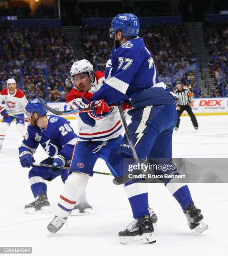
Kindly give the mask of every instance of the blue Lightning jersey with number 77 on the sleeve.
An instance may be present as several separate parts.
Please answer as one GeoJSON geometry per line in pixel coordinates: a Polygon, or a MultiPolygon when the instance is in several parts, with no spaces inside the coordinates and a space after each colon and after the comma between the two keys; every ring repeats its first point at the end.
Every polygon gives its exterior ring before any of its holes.
{"type": "Polygon", "coordinates": [[[94,93],[91,100],[108,104],[132,98],[138,92],[159,83],[153,57],[143,39],[137,37],[118,47],[112,56],[110,79],[94,93]]]}

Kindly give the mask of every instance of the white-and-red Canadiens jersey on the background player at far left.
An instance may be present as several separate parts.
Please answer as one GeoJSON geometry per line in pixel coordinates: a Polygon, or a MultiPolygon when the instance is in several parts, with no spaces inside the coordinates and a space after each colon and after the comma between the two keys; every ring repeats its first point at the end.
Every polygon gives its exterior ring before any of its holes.
{"type": "Polygon", "coordinates": [[[8,113],[18,115],[24,113],[28,100],[21,90],[16,89],[14,94],[10,94],[9,90],[5,88],[0,92],[0,105],[2,102],[5,103],[8,113]]]}

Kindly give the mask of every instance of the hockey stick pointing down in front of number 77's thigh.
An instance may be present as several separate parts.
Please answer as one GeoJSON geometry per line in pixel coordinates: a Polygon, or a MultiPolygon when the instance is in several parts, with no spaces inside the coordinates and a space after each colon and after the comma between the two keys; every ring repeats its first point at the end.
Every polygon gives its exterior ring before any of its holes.
{"type": "MultiPolygon", "coordinates": [[[[128,139],[128,143],[130,145],[131,154],[133,155],[133,159],[135,161],[135,164],[139,164],[138,155],[136,153],[132,138],[130,136],[130,132],[128,130],[128,125],[127,125],[127,122],[126,122],[126,118],[125,118],[124,113],[123,113],[122,104],[118,104],[118,109],[119,109],[119,112],[120,112],[120,118],[121,118],[121,121],[123,123],[125,134],[126,134],[126,137],[128,139]]],[[[141,172],[139,172],[137,170],[135,172],[131,172],[131,174],[140,174],[140,173],[141,172]]],[[[128,175],[129,174],[124,174],[123,176],[116,177],[115,179],[113,179],[113,183],[115,185],[120,185],[120,184],[123,184],[125,182],[128,182],[129,180],[131,180],[131,178],[129,178],[128,175]]]]}

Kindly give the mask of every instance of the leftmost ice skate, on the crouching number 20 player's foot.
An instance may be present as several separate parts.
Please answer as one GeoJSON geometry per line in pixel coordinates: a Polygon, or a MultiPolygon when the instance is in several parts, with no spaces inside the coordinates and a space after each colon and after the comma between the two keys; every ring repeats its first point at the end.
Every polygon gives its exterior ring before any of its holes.
{"type": "Polygon", "coordinates": [[[35,201],[25,205],[25,212],[29,214],[42,214],[51,212],[50,203],[46,195],[38,195],[35,201]]]}

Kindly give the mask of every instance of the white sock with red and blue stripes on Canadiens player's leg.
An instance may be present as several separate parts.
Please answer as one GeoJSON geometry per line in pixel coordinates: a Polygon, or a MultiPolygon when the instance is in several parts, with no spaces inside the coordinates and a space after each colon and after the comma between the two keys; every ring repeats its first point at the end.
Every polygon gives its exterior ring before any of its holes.
{"type": "Polygon", "coordinates": [[[88,184],[89,174],[72,172],[65,181],[63,192],[60,195],[56,216],[65,218],[73,210],[80,195],[88,184]]]}

